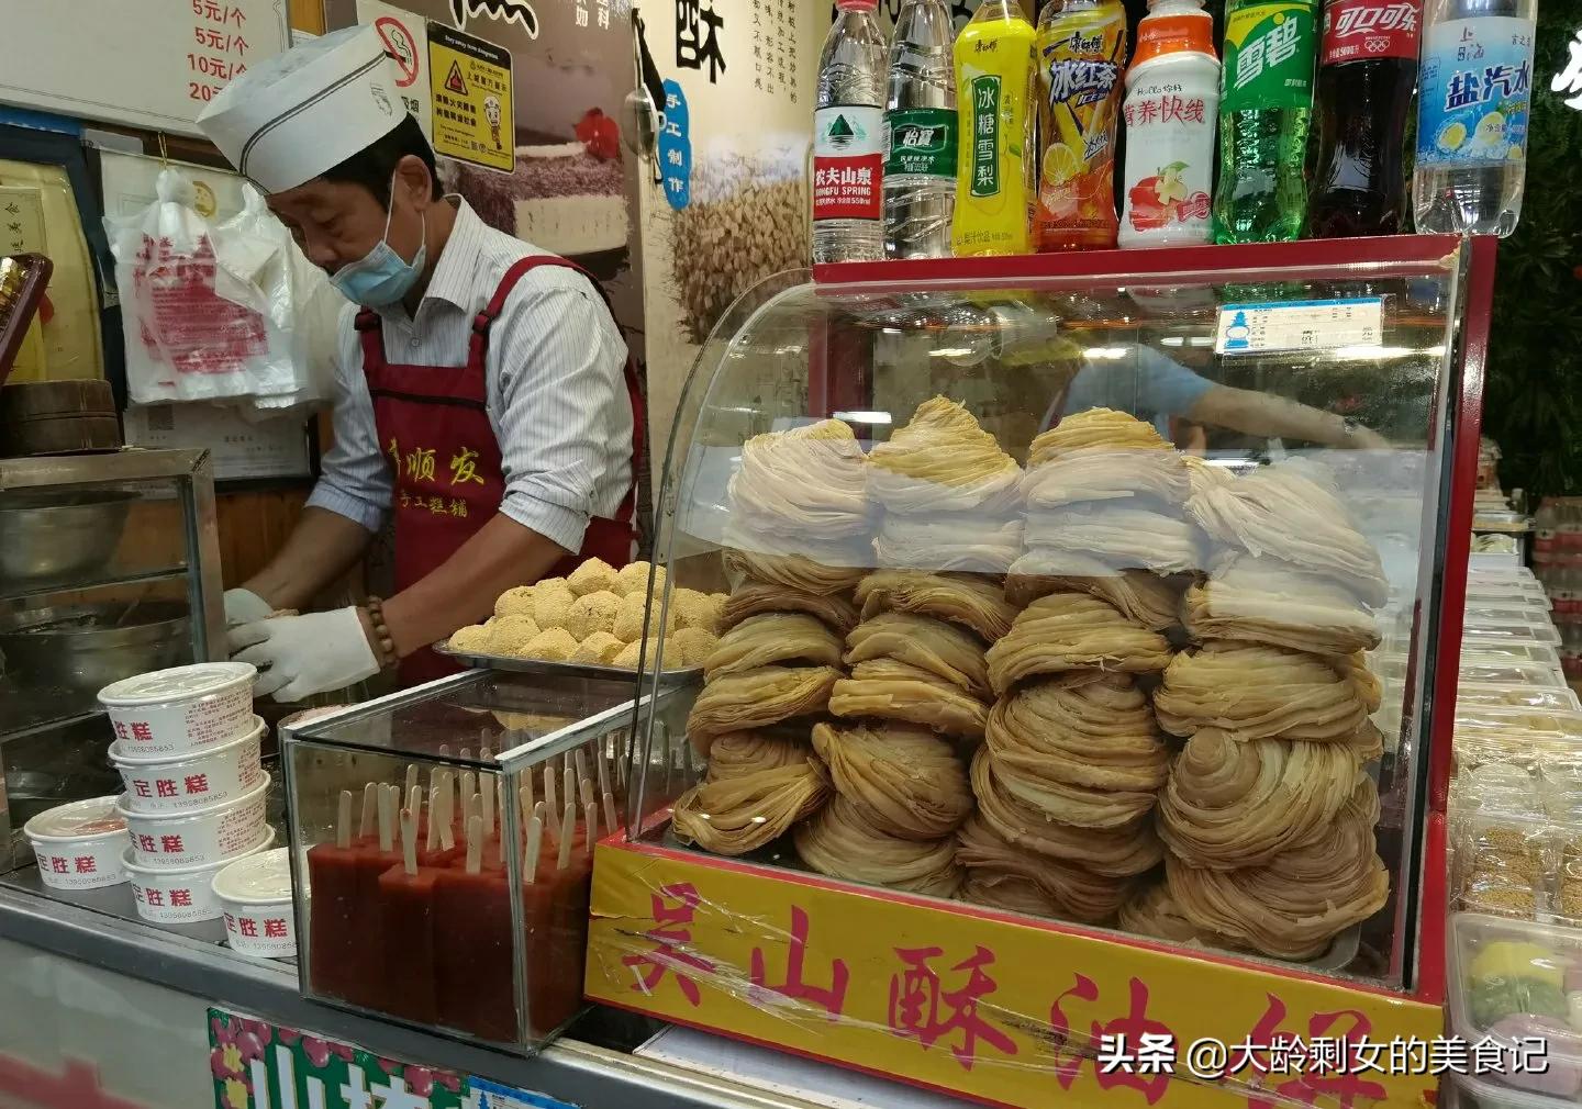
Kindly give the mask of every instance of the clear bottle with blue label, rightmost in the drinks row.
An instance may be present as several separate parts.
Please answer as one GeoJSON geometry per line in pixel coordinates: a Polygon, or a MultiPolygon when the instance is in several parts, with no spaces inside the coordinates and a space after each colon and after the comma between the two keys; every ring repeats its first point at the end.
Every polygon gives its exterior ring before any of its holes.
{"type": "Polygon", "coordinates": [[[1430,0],[1411,195],[1419,233],[1516,229],[1538,0],[1430,0]]]}

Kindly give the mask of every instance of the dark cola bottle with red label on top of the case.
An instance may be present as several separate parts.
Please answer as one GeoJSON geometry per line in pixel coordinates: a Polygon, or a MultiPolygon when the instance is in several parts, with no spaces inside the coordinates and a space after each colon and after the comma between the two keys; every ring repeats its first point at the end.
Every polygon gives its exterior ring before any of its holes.
{"type": "Polygon", "coordinates": [[[1405,223],[1402,158],[1421,27],[1422,0],[1324,5],[1308,214],[1318,239],[1397,234],[1405,223]]]}

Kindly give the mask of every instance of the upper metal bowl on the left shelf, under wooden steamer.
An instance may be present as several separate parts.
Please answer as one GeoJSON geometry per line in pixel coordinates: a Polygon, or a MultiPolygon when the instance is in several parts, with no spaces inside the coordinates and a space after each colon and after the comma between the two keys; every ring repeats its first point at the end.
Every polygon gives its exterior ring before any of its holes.
{"type": "Polygon", "coordinates": [[[136,494],[0,492],[0,585],[70,581],[109,565],[136,494]]]}

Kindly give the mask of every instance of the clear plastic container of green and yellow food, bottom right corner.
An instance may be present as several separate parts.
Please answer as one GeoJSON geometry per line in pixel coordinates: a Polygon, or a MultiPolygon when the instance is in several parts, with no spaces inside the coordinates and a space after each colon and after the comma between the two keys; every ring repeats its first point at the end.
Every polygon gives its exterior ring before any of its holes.
{"type": "Polygon", "coordinates": [[[1582,932],[1457,913],[1449,944],[1451,1031],[1470,1044],[1490,1038],[1506,1049],[1506,1073],[1473,1079],[1474,1096],[1511,1106],[1573,1104],[1582,1095],[1582,1033],[1571,1024],[1582,987],[1582,932]],[[1512,1073],[1516,1041],[1528,1036],[1547,1039],[1542,1069],[1512,1073]]]}

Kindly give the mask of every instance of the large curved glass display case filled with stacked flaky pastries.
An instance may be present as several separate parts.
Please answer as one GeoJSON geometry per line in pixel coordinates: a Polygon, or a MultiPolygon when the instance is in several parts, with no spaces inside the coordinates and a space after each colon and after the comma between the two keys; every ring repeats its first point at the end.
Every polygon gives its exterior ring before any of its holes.
{"type": "Polygon", "coordinates": [[[731,598],[685,742],[639,728],[641,843],[1436,1000],[1490,266],[1398,237],[750,294],[666,459],[650,688],[685,590],[731,598]]]}

